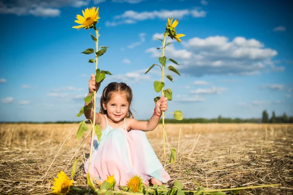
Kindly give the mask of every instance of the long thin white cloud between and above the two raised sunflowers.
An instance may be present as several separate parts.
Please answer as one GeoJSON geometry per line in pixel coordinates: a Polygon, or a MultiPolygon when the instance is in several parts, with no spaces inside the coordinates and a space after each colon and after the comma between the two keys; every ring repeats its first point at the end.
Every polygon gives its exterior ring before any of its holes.
{"type": "Polygon", "coordinates": [[[183,10],[155,10],[136,12],[127,10],[122,15],[115,16],[112,21],[106,21],[106,26],[117,26],[121,24],[131,24],[143,20],[154,20],[156,18],[167,20],[168,17],[182,19],[184,16],[191,16],[193,18],[204,18],[207,12],[201,8],[183,9],[183,10]]]}

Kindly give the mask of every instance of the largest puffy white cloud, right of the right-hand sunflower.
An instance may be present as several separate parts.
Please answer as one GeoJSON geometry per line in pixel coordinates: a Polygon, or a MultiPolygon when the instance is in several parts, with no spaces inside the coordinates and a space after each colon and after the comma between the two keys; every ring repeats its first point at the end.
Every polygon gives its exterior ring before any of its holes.
{"type": "MultiPolygon", "coordinates": [[[[272,58],[278,53],[265,48],[256,39],[236,37],[231,41],[224,36],[191,38],[182,42],[184,49],[176,50],[174,45],[166,47],[166,56],[179,59],[178,70],[193,77],[203,75],[257,75],[264,71],[284,71],[274,65],[272,58]],[[169,50],[169,51],[167,51],[169,50]]],[[[160,51],[149,48],[152,57],[159,57],[160,51]]]]}

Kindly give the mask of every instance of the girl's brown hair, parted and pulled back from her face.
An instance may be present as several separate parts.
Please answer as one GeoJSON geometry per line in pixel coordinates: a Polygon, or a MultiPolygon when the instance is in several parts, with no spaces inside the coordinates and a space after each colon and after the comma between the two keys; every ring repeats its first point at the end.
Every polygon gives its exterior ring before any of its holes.
{"type": "Polygon", "coordinates": [[[100,99],[100,104],[101,104],[100,113],[103,115],[107,114],[107,111],[104,109],[103,103],[107,104],[110,101],[112,95],[115,93],[124,93],[125,94],[126,100],[129,104],[126,118],[130,118],[130,117],[134,118],[131,111],[130,111],[130,105],[131,105],[131,101],[132,101],[132,90],[124,82],[120,82],[120,83],[111,82],[108,84],[108,86],[105,87],[105,89],[103,90],[103,94],[101,96],[101,99],[100,99]]]}

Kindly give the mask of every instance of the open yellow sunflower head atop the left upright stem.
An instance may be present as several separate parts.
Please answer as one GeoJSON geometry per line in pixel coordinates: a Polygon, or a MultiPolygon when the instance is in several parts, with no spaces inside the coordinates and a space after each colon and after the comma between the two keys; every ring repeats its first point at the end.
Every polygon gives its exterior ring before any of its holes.
{"type": "Polygon", "coordinates": [[[76,15],[77,20],[74,20],[76,23],[81,24],[79,26],[73,26],[72,28],[85,28],[86,30],[89,28],[93,28],[95,24],[98,22],[99,17],[99,7],[92,7],[92,8],[86,8],[83,10],[83,15],[76,15]]]}

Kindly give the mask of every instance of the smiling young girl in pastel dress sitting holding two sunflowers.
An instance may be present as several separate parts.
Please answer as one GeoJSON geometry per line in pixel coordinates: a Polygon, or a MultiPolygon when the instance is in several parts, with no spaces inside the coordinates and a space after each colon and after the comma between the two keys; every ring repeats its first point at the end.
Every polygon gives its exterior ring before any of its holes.
{"type": "MultiPolygon", "coordinates": [[[[89,94],[97,91],[100,85],[92,74],[88,82],[89,94]]],[[[90,176],[104,181],[107,176],[114,175],[117,185],[126,186],[129,178],[137,175],[141,176],[146,185],[149,181],[162,185],[170,176],[154,153],[144,131],[152,131],[158,126],[162,112],[168,107],[167,98],[161,97],[156,102],[149,121],[133,118],[131,100],[132,90],[125,83],[111,82],[103,90],[100,113],[95,113],[95,123],[103,131],[100,142],[97,136],[94,137],[90,176]]],[[[93,103],[90,102],[88,106],[92,108],[93,103]]],[[[91,109],[84,115],[93,119],[91,109]]],[[[88,160],[84,164],[86,174],[87,168],[88,160]]]]}

